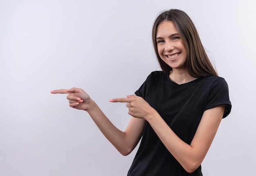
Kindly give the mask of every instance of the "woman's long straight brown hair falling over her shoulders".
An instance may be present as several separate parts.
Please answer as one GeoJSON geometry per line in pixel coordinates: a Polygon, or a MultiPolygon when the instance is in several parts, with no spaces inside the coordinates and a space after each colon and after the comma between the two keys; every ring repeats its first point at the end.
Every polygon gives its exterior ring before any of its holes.
{"type": "Polygon", "coordinates": [[[159,56],[157,51],[157,42],[156,34],[158,25],[164,20],[171,20],[175,23],[177,30],[180,33],[182,41],[186,47],[188,58],[186,59],[186,68],[189,75],[192,77],[202,77],[215,75],[218,76],[218,73],[212,66],[198,35],[195,25],[189,16],[181,10],[171,9],[168,11],[162,12],[155,19],[152,30],[152,39],[153,45],[155,48],[155,53],[159,62],[160,67],[165,73],[168,73],[172,70],[159,56]]]}

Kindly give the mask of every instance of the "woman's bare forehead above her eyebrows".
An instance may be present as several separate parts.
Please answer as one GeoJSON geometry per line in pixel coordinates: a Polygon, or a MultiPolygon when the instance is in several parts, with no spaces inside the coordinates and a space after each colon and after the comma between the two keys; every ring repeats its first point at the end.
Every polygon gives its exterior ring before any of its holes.
{"type": "Polygon", "coordinates": [[[156,37],[169,36],[174,33],[179,33],[175,23],[171,20],[164,20],[157,26],[156,37]]]}

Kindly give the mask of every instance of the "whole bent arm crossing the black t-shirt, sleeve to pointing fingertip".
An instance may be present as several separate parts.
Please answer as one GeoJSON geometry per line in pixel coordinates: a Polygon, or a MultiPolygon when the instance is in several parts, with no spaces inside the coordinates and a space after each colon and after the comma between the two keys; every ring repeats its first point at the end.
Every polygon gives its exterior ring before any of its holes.
{"type": "Polygon", "coordinates": [[[182,141],[144,99],[136,95],[127,98],[112,99],[112,102],[127,102],[128,114],[145,119],[164,143],[168,151],[177,159],[182,167],[192,173],[202,163],[223,117],[225,105],[204,111],[191,144],[182,141]]]}

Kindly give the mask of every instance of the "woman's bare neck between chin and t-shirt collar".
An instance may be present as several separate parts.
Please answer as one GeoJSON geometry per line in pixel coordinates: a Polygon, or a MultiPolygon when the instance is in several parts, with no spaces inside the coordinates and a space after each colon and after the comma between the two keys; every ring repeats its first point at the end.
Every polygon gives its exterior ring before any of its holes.
{"type": "Polygon", "coordinates": [[[186,69],[173,69],[170,72],[169,78],[176,84],[185,84],[196,79],[191,77],[186,69]]]}

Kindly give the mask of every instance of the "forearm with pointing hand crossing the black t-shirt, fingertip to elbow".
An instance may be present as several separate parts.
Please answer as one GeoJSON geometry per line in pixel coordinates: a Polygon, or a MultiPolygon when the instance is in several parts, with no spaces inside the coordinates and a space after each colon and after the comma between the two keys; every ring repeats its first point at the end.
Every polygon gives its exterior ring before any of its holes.
{"type": "Polygon", "coordinates": [[[150,123],[153,130],[156,132],[159,139],[164,143],[166,148],[173,154],[177,161],[186,168],[186,165],[191,165],[194,158],[193,148],[184,143],[165,123],[158,112],[153,109],[141,97],[130,95],[127,98],[112,99],[112,102],[128,102],[128,114],[138,119],[144,119],[150,123]]]}

